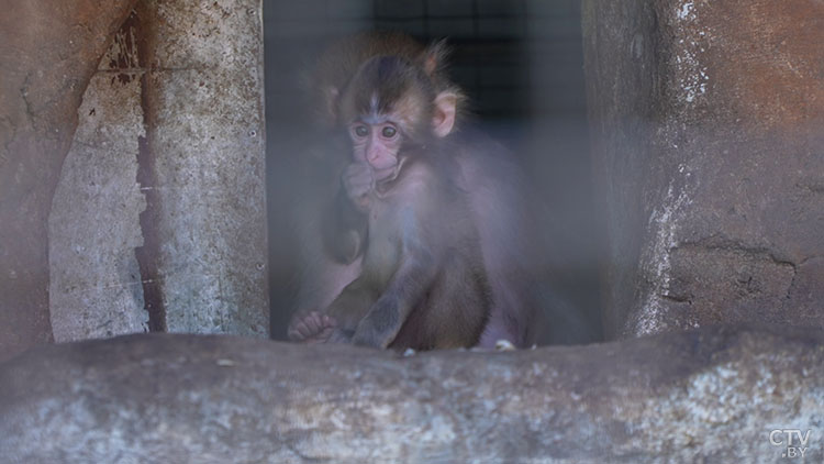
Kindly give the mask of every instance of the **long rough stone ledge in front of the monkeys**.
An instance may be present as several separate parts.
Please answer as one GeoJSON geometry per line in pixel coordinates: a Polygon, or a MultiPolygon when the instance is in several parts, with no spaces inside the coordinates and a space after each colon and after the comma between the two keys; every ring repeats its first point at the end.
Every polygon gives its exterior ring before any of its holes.
{"type": "Polygon", "coordinates": [[[0,454],[54,462],[824,459],[824,335],[703,328],[586,347],[403,357],[203,335],[44,346],[0,366],[0,454]],[[773,437],[775,439],[775,437],[773,437]]]}

